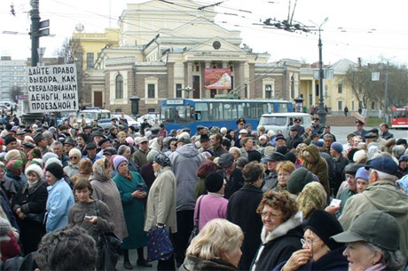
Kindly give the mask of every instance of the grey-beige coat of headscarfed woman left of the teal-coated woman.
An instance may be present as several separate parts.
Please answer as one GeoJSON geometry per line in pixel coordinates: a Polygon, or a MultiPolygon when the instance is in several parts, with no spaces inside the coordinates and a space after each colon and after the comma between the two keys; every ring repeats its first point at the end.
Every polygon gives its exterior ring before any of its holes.
{"type": "Polygon", "coordinates": [[[112,220],[114,221],[114,234],[123,239],[128,237],[125,216],[123,215],[121,195],[112,179],[90,179],[92,185],[92,198],[106,203],[112,220]]]}

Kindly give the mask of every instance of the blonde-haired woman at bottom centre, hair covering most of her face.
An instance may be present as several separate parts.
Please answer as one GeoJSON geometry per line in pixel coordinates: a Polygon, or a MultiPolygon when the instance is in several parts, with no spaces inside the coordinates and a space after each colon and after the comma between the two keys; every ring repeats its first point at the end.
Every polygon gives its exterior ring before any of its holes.
{"type": "Polygon", "coordinates": [[[212,219],[187,248],[181,271],[238,270],[244,234],[226,219],[212,219]]]}

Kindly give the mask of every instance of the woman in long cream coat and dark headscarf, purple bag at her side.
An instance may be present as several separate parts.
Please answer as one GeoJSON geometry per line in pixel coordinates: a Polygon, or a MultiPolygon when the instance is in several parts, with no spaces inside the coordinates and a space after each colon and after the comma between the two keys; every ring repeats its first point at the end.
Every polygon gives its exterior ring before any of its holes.
{"type": "MultiPolygon", "coordinates": [[[[154,155],[152,168],[156,179],[147,197],[145,231],[149,231],[156,225],[167,225],[171,233],[175,234],[177,233],[177,181],[171,171],[169,157],[163,153],[154,155]]],[[[159,260],[157,269],[175,270],[173,256],[166,260],[159,260]]]]}

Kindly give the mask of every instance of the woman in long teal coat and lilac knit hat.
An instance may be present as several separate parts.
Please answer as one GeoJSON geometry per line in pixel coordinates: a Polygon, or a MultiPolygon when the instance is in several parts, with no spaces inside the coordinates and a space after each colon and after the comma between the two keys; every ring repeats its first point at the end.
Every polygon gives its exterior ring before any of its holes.
{"type": "Polygon", "coordinates": [[[114,157],[114,169],[118,171],[114,182],[121,195],[123,214],[129,236],[123,239],[123,266],[132,269],[129,261],[129,250],[137,249],[137,266],[152,267],[147,263],[143,248],[147,242],[145,235],[145,206],[143,199],[147,196],[145,180],[135,171],[129,171],[128,159],[122,155],[114,157]]]}

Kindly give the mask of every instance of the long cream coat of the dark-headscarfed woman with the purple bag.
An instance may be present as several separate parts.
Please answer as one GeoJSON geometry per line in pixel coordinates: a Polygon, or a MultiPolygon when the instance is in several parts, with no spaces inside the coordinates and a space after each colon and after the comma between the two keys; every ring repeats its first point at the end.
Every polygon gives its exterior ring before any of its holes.
{"type": "Polygon", "coordinates": [[[177,233],[177,181],[169,166],[163,167],[153,182],[147,197],[145,231],[149,231],[157,222],[177,233]]]}

